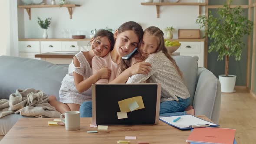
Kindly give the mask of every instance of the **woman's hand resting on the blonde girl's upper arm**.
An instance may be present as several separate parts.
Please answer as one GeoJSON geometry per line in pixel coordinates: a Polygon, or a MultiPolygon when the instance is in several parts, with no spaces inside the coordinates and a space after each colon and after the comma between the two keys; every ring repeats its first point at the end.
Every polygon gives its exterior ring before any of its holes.
{"type": "Polygon", "coordinates": [[[150,72],[151,64],[148,62],[138,62],[129,67],[127,70],[131,75],[144,74],[147,75],[150,72]]]}

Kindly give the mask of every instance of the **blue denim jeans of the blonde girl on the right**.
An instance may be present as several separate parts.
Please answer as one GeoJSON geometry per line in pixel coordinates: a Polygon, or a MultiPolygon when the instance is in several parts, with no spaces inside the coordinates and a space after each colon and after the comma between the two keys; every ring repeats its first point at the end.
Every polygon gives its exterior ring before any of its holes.
{"type": "Polygon", "coordinates": [[[178,100],[161,102],[159,116],[187,115],[187,111],[184,110],[190,104],[190,98],[182,99],[178,97],[178,100]]]}

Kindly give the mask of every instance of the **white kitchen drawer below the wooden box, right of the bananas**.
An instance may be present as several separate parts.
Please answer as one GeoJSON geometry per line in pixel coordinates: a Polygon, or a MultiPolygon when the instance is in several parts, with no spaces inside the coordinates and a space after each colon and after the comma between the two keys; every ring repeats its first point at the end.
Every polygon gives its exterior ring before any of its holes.
{"type": "Polygon", "coordinates": [[[181,47],[179,52],[200,53],[200,42],[180,42],[181,47]]]}

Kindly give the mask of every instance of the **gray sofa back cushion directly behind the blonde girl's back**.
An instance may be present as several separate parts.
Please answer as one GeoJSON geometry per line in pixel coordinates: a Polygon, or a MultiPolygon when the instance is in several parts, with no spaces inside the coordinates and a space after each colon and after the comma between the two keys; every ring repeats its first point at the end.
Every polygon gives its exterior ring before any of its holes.
{"type": "Polygon", "coordinates": [[[177,65],[183,73],[185,85],[190,94],[190,105],[193,104],[195,89],[197,86],[197,61],[198,57],[194,56],[173,56],[177,65]]]}

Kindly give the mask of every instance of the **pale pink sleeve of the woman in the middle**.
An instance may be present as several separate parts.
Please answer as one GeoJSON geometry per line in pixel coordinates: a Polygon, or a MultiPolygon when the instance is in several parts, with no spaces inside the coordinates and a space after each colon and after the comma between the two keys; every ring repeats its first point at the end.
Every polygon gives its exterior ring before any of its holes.
{"type": "MultiPolygon", "coordinates": [[[[95,74],[96,72],[98,72],[98,70],[100,70],[101,68],[103,68],[105,65],[105,59],[100,58],[98,56],[94,56],[92,58],[92,74],[95,74]]],[[[96,84],[107,84],[108,83],[108,79],[99,79],[96,84]]]]}

